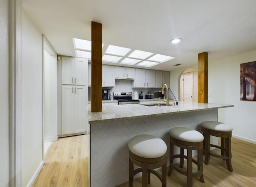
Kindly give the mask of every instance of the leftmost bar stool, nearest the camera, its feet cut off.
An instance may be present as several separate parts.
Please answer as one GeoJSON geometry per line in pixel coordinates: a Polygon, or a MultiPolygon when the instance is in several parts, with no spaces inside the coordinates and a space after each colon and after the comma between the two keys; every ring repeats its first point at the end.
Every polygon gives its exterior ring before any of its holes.
{"type": "Polygon", "coordinates": [[[133,177],[142,172],[142,187],[150,184],[150,173],[156,175],[166,187],[166,151],[164,141],[153,135],[137,135],[130,139],[129,147],[129,187],[133,187],[133,177]],[[133,164],[140,168],[135,169],[133,164]],[[162,167],[162,176],[154,169],[162,167]]]}

